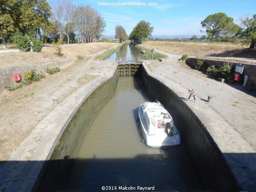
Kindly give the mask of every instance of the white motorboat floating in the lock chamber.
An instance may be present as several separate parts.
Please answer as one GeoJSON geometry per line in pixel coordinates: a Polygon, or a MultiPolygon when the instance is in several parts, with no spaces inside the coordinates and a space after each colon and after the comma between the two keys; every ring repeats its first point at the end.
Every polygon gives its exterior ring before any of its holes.
{"type": "Polygon", "coordinates": [[[144,102],[138,117],[145,143],[150,147],[180,144],[180,135],[168,111],[159,102],[144,102]]]}

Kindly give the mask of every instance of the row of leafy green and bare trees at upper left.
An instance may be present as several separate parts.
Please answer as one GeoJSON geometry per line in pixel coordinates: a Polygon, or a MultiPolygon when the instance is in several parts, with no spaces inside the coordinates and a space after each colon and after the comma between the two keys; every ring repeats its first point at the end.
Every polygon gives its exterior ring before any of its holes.
{"type": "MultiPolygon", "coordinates": [[[[72,0],[0,0],[0,39],[6,48],[14,34],[56,42],[66,38],[94,42],[100,38],[106,22],[90,5],[75,5],[72,0]]],[[[72,40],[71,40],[72,39],[72,40]]]]}

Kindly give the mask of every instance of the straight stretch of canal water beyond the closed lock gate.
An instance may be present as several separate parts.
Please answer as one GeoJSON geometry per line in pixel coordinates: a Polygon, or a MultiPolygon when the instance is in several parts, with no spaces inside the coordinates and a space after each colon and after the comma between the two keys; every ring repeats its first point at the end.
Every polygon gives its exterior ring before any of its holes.
{"type": "Polygon", "coordinates": [[[116,58],[141,58],[148,59],[147,56],[141,53],[141,51],[130,43],[125,43],[119,48],[110,58],[107,60],[116,60],[116,58]]]}

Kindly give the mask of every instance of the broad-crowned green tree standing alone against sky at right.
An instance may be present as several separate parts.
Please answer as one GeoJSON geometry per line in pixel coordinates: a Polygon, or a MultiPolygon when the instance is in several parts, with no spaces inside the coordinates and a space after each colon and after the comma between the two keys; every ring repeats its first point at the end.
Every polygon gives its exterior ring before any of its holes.
{"type": "Polygon", "coordinates": [[[234,24],[233,20],[233,18],[227,17],[225,13],[215,13],[201,21],[201,26],[202,28],[206,28],[211,42],[215,37],[235,35],[239,27],[234,24]]]}

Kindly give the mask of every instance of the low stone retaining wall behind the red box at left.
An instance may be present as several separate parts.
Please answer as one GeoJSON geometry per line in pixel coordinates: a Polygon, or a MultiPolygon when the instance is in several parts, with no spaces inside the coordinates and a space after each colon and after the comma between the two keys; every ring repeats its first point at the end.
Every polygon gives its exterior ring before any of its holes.
{"type": "Polygon", "coordinates": [[[3,67],[0,70],[0,93],[4,91],[6,86],[15,86],[17,83],[14,81],[13,75],[15,73],[20,73],[21,79],[25,78],[25,73],[35,70],[38,73],[41,71],[45,72],[47,68],[64,68],[67,67],[72,62],[72,59],[67,59],[65,61],[50,61],[45,63],[36,64],[25,64],[24,66],[14,66],[14,67],[3,67]]]}

